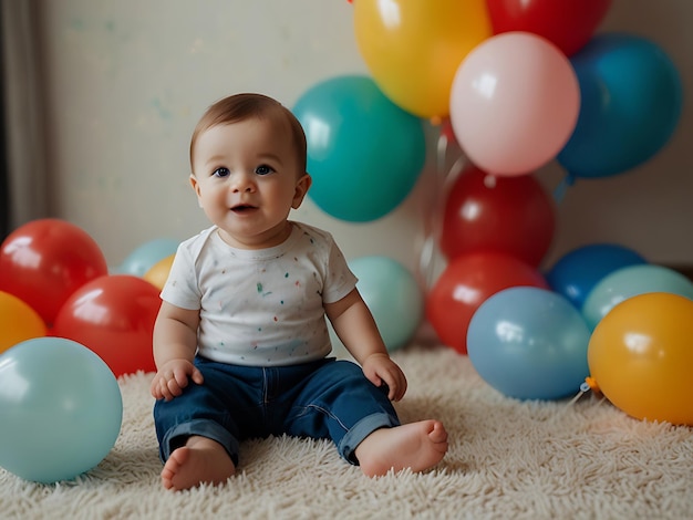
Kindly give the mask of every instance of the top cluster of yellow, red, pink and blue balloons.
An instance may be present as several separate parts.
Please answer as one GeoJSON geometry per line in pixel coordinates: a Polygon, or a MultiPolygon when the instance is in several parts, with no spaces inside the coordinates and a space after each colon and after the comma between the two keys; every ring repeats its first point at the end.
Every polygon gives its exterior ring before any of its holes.
{"type": "Polygon", "coordinates": [[[354,33],[382,92],[449,118],[494,175],[558,158],[571,178],[627,171],[673,133],[681,80],[649,40],[594,35],[611,0],[358,0],[354,33]]]}

